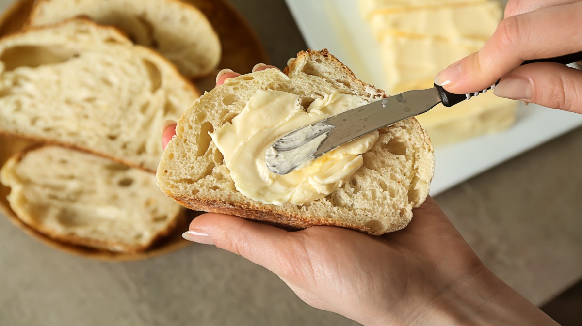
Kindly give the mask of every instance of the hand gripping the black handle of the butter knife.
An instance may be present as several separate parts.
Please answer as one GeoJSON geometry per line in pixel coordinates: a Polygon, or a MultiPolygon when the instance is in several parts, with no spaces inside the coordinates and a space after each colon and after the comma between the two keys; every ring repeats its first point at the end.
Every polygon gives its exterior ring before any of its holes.
{"type": "Polygon", "coordinates": [[[497,96],[582,113],[582,71],[548,62],[520,66],[524,60],[579,52],[581,28],[580,0],[509,0],[491,39],[441,71],[435,84],[467,94],[503,77],[497,96]]]}

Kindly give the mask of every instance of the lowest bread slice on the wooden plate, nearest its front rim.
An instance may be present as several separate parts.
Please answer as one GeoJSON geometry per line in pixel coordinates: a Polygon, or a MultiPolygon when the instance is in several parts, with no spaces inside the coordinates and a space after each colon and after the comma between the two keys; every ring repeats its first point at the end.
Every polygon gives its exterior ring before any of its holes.
{"type": "Polygon", "coordinates": [[[26,149],[0,171],[8,202],[34,230],[58,241],[143,252],[183,213],[151,173],[59,146],[26,149]]]}

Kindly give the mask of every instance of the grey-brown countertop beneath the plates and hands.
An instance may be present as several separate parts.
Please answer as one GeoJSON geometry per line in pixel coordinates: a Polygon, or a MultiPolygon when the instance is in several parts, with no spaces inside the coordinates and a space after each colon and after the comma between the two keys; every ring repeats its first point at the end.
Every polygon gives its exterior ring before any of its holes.
{"type": "MultiPolygon", "coordinates": [[[[275,65],[306,47],[283,0],[232,2],[275,65]]],[[[582,129],[436,198],[485,264],[537,304],[582,277],[580,149],[582,129]]],[[[48,248],[3,217],[0,239],[0,325],[356,325],[213,246],[107,263],[48,248]]]]}

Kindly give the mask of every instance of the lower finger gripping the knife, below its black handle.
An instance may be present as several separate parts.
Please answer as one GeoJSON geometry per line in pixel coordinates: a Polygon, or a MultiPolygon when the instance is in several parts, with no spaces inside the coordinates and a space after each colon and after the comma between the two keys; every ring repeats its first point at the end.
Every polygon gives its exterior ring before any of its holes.
{"type": "Polygon", "coordinates": [[[582,113],[582,71],[549,62],[521,66],[501,80],[495,95],[582,113]]]}

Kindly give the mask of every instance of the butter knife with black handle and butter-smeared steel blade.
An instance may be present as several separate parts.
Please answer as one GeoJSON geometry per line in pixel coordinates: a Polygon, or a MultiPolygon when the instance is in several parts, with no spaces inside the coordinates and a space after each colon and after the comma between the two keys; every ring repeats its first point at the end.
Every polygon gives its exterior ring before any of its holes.
{"type": "MultiPolygon", "coordinates": [[[[550,59],[527,60],[522,66],[536,62],[569,65],[580,60],[582,52],[577,52],[550,59]]],[[[497,84],[499,80],[489,88],[470,94],[452,94],[435,84],[432,88],[403,92],[348,110],[284,135],[267,149],[265,162],[272,172],[288,174],[368,132],[425,113],[439,103],[453,106],[494,89],[497,84]]]]}

